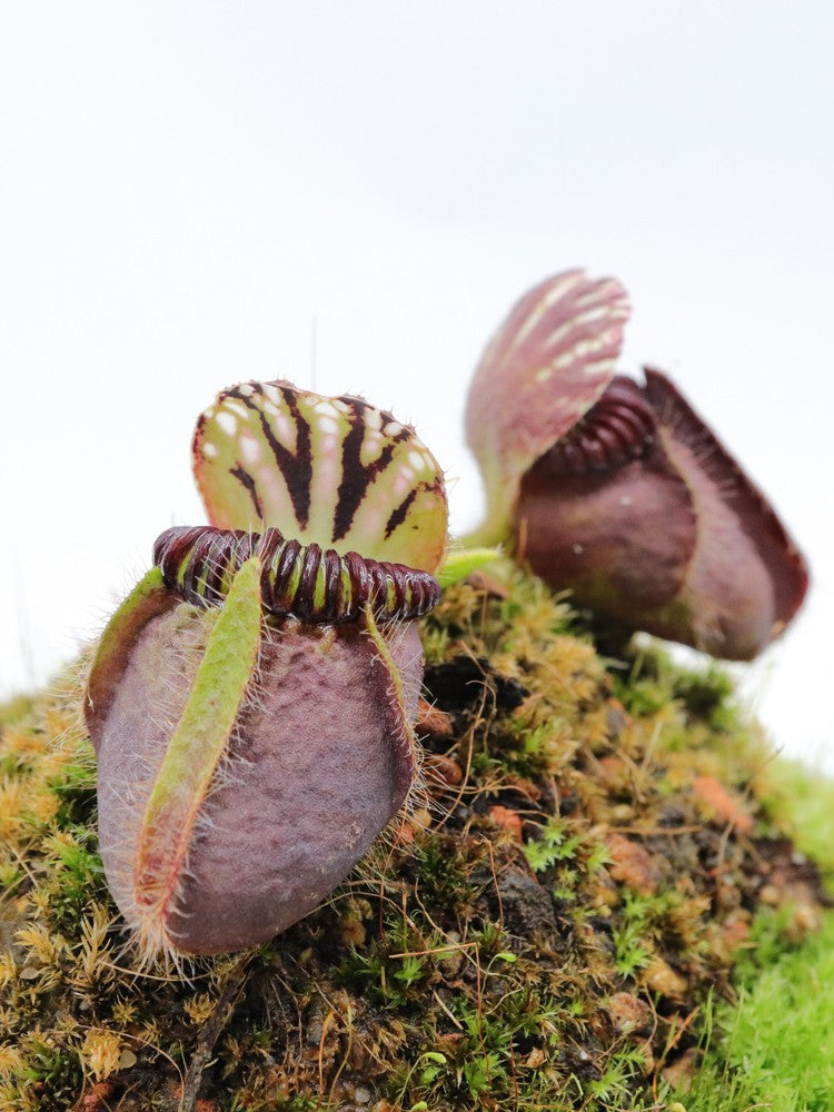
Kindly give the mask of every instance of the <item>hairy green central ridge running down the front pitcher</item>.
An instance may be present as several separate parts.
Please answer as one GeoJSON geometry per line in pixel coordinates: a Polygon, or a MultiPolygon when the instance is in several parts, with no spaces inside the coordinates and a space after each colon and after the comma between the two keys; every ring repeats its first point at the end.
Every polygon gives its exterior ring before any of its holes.
{"type": "MultiPolygon", "coordinates": [[[[227,749],[260,641],[257,557],[238,570],[214,624],[191,693],[148,800],[135,884],[142,912],[165,916],[176,895],[195,822],[227,749]]],[[[214,617],[216,614],[216,617],[214,617]]]]}

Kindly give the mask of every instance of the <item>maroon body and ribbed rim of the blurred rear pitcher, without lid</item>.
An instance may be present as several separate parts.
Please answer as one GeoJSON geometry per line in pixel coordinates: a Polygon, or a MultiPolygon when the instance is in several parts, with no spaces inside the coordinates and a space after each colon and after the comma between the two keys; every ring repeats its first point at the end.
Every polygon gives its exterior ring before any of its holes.
{"type": "Polygon", "coordinates": [[[802,555],[767,499],[661,371],[617,378],[525,475],[517,536],[583,605],[749,659],[800,607],[802,555]]]}

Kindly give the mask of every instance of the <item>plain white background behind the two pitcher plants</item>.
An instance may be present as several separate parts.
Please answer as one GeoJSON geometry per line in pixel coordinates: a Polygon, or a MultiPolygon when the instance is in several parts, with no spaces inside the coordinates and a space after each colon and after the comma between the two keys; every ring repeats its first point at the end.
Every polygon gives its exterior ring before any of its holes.
{"type": "Polygon", "coordinates": [[[480,508],[471,369],[510,304],[614,274],[624,369],[673,373],[812,563],[745,674],[834,768],[834,4],[0,3],[0,693],[203,520],[218,389],[411,419],[480,508]]]}

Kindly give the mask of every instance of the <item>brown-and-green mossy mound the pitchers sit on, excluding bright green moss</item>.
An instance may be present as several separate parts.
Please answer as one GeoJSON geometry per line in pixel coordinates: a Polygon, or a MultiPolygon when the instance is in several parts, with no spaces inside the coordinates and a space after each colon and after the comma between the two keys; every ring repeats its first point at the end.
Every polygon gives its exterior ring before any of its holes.
{"type": "MultiPolygon", "coordinates": [[[[510,568],[424,643],[408,816],[315,915],[187,976],[120,949],[79,687],[8,716],[0,1110],[674,1108],[761,909],[780,939],[820,921],[757,731],[719,669],[592,636],[510,568]]],[[[738,1060],[709,1061],[726,1090],[738,1060]]]]}

